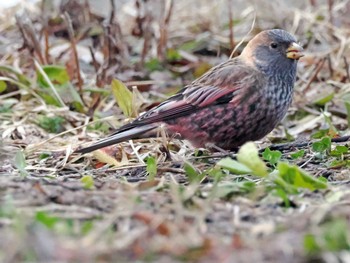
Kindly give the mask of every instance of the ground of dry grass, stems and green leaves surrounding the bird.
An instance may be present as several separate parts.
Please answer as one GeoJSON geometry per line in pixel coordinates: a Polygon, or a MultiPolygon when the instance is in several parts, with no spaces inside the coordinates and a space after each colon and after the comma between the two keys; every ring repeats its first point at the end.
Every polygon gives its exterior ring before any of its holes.
{"type": "Polygon", "coordinates": [[[349,1],[47,3],[0,15],[1,262],[350,262],[349,1]],[[275,27],[306,56],[263,140],[73,153],[275,27]]]}

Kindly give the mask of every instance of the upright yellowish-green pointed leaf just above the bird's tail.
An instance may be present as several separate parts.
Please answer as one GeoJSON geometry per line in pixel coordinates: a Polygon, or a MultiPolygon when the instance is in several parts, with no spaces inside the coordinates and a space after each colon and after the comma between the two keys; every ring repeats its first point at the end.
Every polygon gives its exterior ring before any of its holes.
{"type": "Polygon", "coordinates": [[[132,92],[124,85],[123,82],[114,79],[112,80],[112,92],[119,108],[127,117],[134,116],[132,107],[132,92]]]}

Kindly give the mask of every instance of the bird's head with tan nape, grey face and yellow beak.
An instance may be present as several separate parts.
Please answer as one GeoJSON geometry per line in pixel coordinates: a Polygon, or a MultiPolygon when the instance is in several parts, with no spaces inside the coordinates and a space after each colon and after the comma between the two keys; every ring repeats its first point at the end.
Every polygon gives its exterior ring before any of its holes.
{"type": "Polygon", "coordinates": [[[282,29],[265,30],[256,35],[242,52],[242,59],[265,73],[296,70],[303,48],[293,35],[282,29]]]}

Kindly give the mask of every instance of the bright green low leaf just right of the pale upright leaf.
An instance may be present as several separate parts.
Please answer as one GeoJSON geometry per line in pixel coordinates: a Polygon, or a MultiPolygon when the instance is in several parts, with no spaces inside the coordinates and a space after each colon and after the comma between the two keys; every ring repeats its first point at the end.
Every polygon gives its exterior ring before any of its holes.
{"type": "Polygon", "coordinates": [[[307,188],[311,191],[327,188],[327,183],[312,177],[296,165],[279,162],[278,175],[284,182],[297,188],[307,188]]]}

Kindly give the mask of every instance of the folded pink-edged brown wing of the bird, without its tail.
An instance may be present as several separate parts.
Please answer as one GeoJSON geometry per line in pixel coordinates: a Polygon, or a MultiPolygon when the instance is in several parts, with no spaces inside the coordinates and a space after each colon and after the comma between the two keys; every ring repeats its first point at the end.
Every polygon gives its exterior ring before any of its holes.
{"type": "Polygon", "coordinates": [[[240,61],[224,62],[115,133],[185,116],[203,107],[230,103],[238,94],[242,94],[242,91],[249,94],[250,90],[257,88],[259,74],[254,68],[240,61]]]}

